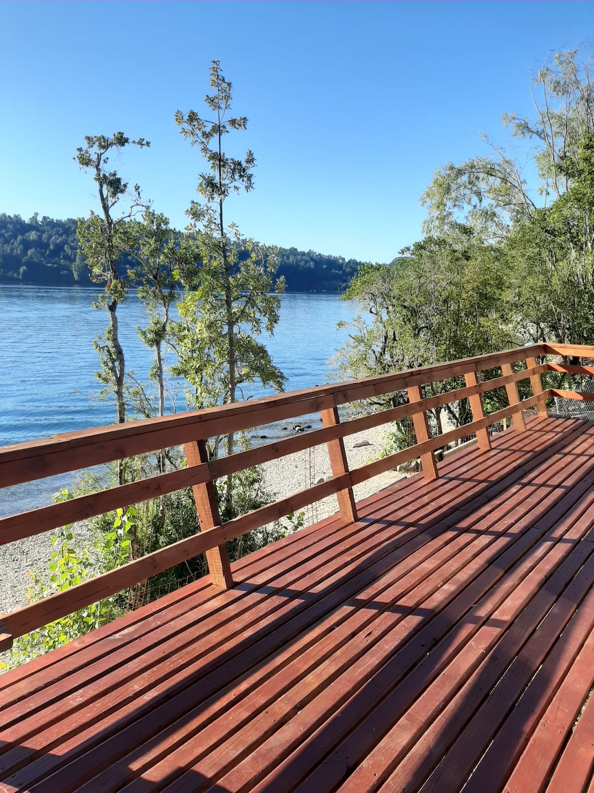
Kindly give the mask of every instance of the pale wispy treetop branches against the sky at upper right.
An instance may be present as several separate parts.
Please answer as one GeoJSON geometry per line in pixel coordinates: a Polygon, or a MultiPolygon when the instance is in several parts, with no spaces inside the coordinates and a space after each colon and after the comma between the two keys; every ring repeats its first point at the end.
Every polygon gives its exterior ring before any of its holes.
{"type": "Polygon", "coordinates": [[[539,203],[546,207],[561,196],[571,179],[568,163],[578,165],[579,152],[594,134],[594,94],[589,57],[577,61],[577,51],[559,52],[531,80],[535,117],[504,113],[502,120],[512,135],[535,143],[531,150],[539,176],[531,193],[524,164],[505,147],[482,139],[491,154],[448,163],[437,170],[421,198],[427,207],[425,232],[447,232],[460,220],[482,239],[508,239],[512,225],[535,217],[539,203]],[[540,198],[539,198],[540,197],[540,198]]]}

